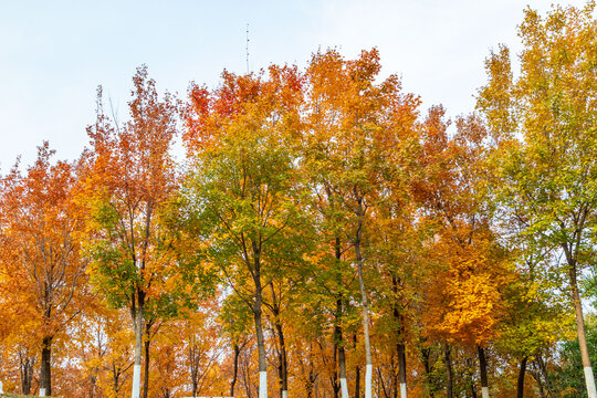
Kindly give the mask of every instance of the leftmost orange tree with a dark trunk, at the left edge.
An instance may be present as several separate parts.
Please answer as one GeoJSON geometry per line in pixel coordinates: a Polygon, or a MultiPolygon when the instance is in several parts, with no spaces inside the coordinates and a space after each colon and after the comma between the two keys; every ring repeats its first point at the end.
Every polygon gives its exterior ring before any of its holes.
{"type": "MultiPolygon", "coordinates": [[[[4,300],[36,328],[41,346],[40,395],[52,394],[52,344],[84,305],[86,262],[74,198],[76,165],[52,161],[48,143],[23,175],[17,164],[0,186],[0,261],[4,300]]],[[[23,388],[28,389],[28,388],[23,388]]]]}

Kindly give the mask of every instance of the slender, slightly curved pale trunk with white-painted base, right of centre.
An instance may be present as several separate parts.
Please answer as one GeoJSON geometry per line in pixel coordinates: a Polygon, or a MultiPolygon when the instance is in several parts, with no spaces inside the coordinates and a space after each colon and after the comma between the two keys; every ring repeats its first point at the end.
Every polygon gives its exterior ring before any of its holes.
{"type": "Polygon", "coordinates": [[[365,289],[365,279],[363,276],[363,254],[360,252],[362,232],[363,232],[363,203],[358,201],[358,226],[355,235],[355,256],[357,262],[358,284],[360,286],[360,297],[363,304],[363,338],[365,343],[365,398],[373,398],[373,362],[371,362],[371,346],[369,343],[369,304],[367,300],[367,291],[365,289]]]}

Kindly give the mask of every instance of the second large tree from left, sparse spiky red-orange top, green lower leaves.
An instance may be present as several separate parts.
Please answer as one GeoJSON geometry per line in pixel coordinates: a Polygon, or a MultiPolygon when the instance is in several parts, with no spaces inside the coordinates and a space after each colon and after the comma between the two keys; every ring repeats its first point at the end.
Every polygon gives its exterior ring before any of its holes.
{"type": "Polygon", "coordinates": [[[151,302],[154,308],[160,308],[160,301],[176,304],[180,291],[165,250],[166,227],[159,221],[177,189],[169,153],[177,107],[169,94],[159,100],[147,67],[137,70],[133,83],[130,121],[123,126],[104,114],[98,90],[97,121],[87,128],[92,149],[82,200],[88,203],[92,282],[112,305],[130,311],[135,332],[132,397],[138,398],[146,308],[151,302]]]}

